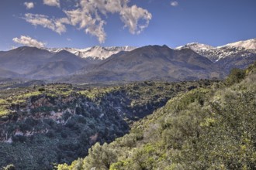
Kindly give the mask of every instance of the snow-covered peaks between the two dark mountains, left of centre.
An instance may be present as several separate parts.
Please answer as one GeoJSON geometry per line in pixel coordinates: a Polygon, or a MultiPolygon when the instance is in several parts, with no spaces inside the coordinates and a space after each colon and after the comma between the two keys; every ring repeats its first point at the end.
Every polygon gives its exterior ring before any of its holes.
{"type": "Polygon", "coordinates": [[[102,46],[93,46],[85,49],[75,49],[75,48],[53,48],[47,49],[51,53],[58,53],[61,50],[66,50],[70,53],[73,53],[76,56],[80,56],[85,59],[106,59],[113,54],[119,53],[121,51],[131,51],[136,49],[133,46],[111,46],[111,47],[102,47],[102,46]]]}

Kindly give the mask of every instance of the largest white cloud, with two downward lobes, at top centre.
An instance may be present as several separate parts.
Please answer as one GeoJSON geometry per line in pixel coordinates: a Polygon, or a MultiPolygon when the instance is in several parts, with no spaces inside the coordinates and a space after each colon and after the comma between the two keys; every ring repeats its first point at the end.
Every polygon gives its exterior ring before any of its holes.
{"type": "Polygon", "coordinates": [[[107,17],[108,13],[119,13],[120,19],[130,33],[139,34],[149,24],[152,15],[144,8],[137,5],[128,6],[129,0],[81,0],[78,8],[64,11],[71,21],[71,25],[84,29],[86,33],[97,36],[99,42],[105,42],[106,32],[103,28],[106,21],[101,15],[107,17]],[[143,20],[144,23],[139,22],[143,20]]]}

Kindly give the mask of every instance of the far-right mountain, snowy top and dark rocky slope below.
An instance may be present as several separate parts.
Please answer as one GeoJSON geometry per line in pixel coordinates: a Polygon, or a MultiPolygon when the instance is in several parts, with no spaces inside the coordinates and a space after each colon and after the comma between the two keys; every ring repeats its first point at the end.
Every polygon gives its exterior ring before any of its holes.
{"type": "Polygon", "coordinates": [[[227,75],[234,68],[244,69],[256,59],[256,39],[229,43],[225,46],[208,46],[197,42],[176,49],[192,49],[210,59],[220,72],[227,75]]]}

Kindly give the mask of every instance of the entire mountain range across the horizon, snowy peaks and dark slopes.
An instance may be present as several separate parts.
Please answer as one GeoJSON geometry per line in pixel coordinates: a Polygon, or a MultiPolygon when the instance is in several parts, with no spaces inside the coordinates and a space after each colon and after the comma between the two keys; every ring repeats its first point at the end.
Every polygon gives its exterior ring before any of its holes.
{"type": "Polygon", "coordinates": [[[21,46],[0,52],[0,77],[98,83],[137,80],[221,79],[234,67],[256,60],[256,39],[209,46],[38,49],[21,46]]]}

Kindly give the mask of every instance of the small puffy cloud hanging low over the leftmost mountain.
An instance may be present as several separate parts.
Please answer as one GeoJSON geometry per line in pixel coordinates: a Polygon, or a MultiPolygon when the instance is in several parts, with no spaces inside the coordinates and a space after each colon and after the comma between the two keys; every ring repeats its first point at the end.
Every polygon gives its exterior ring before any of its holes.
{"type": "Polygon", "coordinates": [[[36,39],[32,39],[29,36],[20,36],[20,38],[14,38],[12,39],[13,42],[22,44],[24,46],[36,46],[37,48],[45,47],[45,42],[37,41],[36,39]]]}

